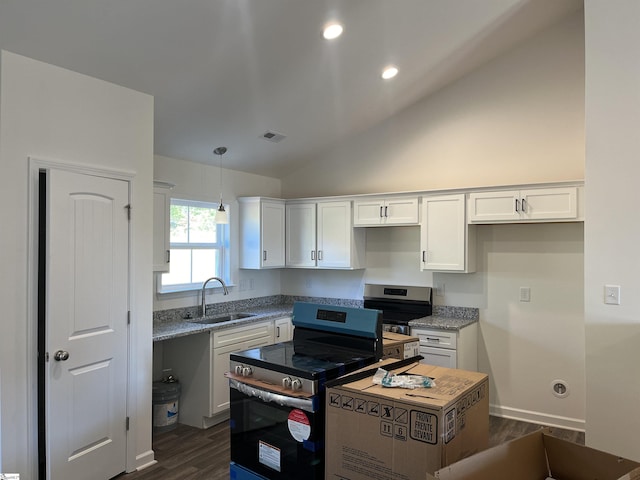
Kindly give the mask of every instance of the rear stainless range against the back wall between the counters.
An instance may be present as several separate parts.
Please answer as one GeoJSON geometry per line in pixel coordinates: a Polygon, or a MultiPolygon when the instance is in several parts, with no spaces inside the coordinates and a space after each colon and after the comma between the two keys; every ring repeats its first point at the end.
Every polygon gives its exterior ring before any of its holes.
{"type": "Polygon", "coordinates": [[[431,315],[433,292],[431,287],[403,285],[364,286],[364,308],[382,311],[385,332],[409,334],[409,322],[431,315]]]}

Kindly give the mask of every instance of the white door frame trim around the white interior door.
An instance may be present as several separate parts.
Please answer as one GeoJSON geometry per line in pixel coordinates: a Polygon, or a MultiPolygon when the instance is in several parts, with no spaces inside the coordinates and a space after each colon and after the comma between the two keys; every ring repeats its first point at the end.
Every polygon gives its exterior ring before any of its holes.
{"type": "MultiPolygon", "coordinates": [[[[106,177],[114,180],[126,181],[129,185],[129,200],[133,198],[133,179],[135,172],[125,170],[106,169],[94,167],[86,164],[65,162],[59,160],[45,160],[37,157],[28,158],[29,168],[29,185],[28,185],[28,218],[27,218],[27,455],[32,459],[30,462],[31,472],[27,475],[29,478],[37,479],[39,472],[39,452],[38,452],[38,216],[39,216],[39,173],[41,170],[66,170],[82,175],[93,175],[106,177]]],[[[131,305],[135,304],[135,289],[132,277],[132,252],[134,218],[132,216],[129,223],[129,259],[128,259],[128,276],[129,276],[129,304],[128,310],[131,311],[131,305]]],[[[135,451],[135,432],[136,432],[136,390],[133,383],[135,378],[132,371],[135,362],[136,353],[136,329],[128,329],[127,340],[127,417],[130,419],[129,430],[126,433],[126,460],[125,469],[127,472],[136,469],[136,451],[135,451]]]]}

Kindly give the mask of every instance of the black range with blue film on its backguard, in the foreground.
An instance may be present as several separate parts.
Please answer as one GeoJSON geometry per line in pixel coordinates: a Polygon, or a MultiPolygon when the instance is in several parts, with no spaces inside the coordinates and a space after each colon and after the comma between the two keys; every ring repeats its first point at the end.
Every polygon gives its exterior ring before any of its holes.
{"type": "Polygon", "coordinates": [[[323,480],[325,383],[382,356],[378,310],[296,302],[293,325],[230,355],[231,478],[323,480]]]}

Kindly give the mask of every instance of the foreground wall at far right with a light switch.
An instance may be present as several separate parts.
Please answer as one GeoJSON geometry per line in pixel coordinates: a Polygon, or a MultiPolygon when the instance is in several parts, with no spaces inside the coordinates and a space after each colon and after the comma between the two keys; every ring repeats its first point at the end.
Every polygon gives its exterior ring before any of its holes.
{"type": "Polygon", "coordinates": [[[640,461],[640,3],[585,1],[587,444],[640,461]],[[604,285],[621,304],[604,304],[604,285]]]}

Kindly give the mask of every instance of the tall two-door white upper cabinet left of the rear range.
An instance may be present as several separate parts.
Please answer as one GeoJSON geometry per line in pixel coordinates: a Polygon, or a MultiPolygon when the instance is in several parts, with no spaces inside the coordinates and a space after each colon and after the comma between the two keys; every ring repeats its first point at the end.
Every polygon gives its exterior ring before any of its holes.
{"type": "Polygon", "coordinates": [[[351,201],[287,202],[285,230],[287,267],[364,266],[365,232],[353,228],[351,201]]]}

